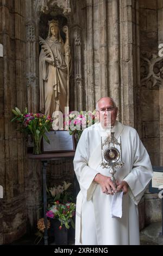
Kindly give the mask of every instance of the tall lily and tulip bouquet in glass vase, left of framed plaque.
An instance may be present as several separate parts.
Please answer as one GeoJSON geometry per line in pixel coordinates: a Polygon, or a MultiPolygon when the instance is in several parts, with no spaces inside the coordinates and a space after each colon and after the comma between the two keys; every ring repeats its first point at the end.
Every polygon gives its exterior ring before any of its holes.
{"type": "Polygon", "coordinates": [[[34,142],[33,153],[40,154],[42,137],[50,143],[45,132],[51,130],[53,119],[41,113],[28,113],[27,108],[21,113],[20,109],[16,107],[12,109],[12,113],[15,117],[11,121],[17,121],[21,126],[20,131],[32,136],[34,142]]]}

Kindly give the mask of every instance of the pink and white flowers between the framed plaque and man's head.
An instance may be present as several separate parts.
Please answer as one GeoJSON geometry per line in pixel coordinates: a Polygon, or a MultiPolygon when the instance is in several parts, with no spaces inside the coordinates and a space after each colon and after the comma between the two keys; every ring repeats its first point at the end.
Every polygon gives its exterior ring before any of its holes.
{"type": "Polygon", "coordinates": [[[95,124],[96,110],[93,112],[86,112],[86,111],[72,111],[65,116],[64,127],[65,130],[70,130],[70,134],[74,134],[74,137],[79,140],[82,132],[85,128],[95,124]]]}

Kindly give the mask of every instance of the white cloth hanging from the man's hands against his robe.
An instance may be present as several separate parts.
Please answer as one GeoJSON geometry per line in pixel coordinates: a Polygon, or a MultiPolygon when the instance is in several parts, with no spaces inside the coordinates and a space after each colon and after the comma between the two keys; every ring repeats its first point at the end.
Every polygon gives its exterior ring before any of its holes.
{"type": "Polygon", "coordinates": [[[122,197],[123,197],[123,191],[115,193],[114,196],[112,196],[112,203],[111,203],[111,217],[119,217],[122,218],[122,197]]]}

